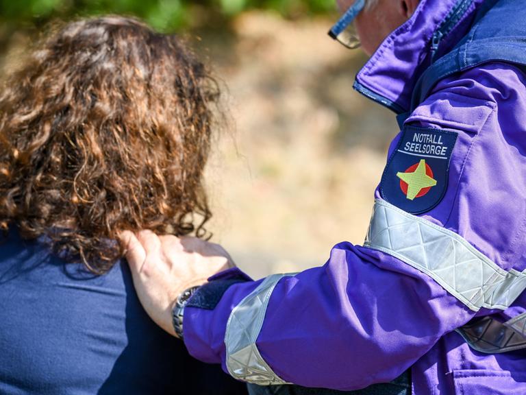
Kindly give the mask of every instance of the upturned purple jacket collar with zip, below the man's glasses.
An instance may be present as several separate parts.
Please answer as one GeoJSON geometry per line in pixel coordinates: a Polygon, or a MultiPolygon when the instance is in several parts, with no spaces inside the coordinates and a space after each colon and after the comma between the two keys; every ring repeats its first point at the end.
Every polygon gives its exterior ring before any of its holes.
{"type": "Polygon", "coordinates": [[[356,75],[354,88],[391,110],[408,111],[418,78],[469,31],[484,0],[421,0],[412,17],[392,32],[356,75]]]}

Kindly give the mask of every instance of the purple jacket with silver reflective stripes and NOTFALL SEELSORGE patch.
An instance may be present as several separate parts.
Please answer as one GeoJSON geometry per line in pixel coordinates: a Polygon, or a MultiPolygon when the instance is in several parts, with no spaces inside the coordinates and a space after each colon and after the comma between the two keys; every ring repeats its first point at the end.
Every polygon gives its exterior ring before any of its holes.
{"type": "Polygon", "coordinates": [[[355,390],[411,368],[416,395],[526,394],[526,348],[488,354],[455,331],[526,312],[526,74],[503,44],[493,61],[468,64],[458,51],[457,73],[427,88],[421,78],[431,52],[440,65],[488,3],[520,2],[422,0],[386,38],[356,88],[408,114],[366,243],[340,243],[296,275],[212,278],[185,311],[193,356],[262,384],[355,390]]]}

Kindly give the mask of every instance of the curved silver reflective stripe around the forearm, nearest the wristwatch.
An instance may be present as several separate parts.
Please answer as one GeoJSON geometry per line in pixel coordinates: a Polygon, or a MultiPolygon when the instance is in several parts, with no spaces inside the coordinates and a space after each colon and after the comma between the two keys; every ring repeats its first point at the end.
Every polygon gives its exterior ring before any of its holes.
{"type": "Polygon", "coordinates": [[[284,276],[274,274],[265,280],[230,313],[225,333],[227,368],[234,379],[258,385],[287,384],[262,358],[255,341],[265,318],[268,300],[277,282],[284,276]]]}

